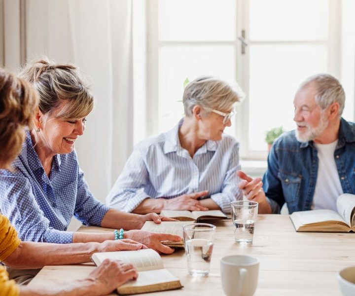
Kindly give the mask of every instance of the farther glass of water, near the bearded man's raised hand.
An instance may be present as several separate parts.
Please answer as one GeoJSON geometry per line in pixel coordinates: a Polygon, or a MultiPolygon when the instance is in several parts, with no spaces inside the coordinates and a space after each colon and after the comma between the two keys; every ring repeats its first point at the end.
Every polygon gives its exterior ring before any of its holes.
{"type": "Polygon", "coordinates": [[[251,244],[257,217],[256,201],[238,200],[231,202],[234,240],[239,244],[251,244]]]}

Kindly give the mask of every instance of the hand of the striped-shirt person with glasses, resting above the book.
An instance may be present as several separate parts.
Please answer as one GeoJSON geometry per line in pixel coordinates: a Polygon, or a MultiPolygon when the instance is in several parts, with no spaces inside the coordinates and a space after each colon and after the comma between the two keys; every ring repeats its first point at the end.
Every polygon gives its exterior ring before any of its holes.
{"type": "Polygon", "coordinates": [[[207,211],[197,199],[208,194],[208,190],[182,194],[175,198],[164,199],[163,210],[207,211]]]}

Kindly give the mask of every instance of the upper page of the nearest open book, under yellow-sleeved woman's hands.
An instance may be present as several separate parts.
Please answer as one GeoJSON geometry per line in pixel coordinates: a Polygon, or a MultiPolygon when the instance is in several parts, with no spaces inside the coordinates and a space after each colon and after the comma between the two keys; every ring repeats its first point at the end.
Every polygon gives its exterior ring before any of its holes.
{"type": "Polygon", "coordinates": [[[92,259],[96,265],[99,265],[97,260],[99,263],[105,259],[121,260],[131,263],[138,271],[164,268],[160,255],[152,249],[95,253],[92,259]]]}

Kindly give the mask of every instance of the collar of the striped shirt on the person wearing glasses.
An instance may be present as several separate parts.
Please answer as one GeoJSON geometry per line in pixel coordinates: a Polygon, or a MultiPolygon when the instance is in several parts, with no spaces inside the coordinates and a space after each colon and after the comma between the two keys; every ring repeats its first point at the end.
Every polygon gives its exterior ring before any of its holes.
{"type": "MultiPolygon", "coordinates": [[[[182,125],[182,122],[183,122],[183,118],[179,120],[178,124],[173,129],[167,132],[166,141],[163,148],[165,154],[170,152],[177,152],[178,149],[182,149],[178,138],[178,130],[182,125]]],[[[196,154],[206,153],[207,151],[215,151],[217,150],[218,145],[219,145],[219,141],[208,140],[202,147],[200,147],[196,151],[196,154]]]]}

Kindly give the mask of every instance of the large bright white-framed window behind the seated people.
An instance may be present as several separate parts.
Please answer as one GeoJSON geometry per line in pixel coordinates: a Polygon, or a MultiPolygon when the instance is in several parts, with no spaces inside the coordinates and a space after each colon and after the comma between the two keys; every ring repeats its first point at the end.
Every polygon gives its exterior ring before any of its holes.
{"type": "Polygon", "coordinates": [[[265,132],[294,128],[297,86],[317,73],[341,78],[340,9],[333,0],[147,2],[147,136],[183,116],[186,78],[212,74],[246,92],[227,132],[242,157],[265,159],[265,132]]]}

